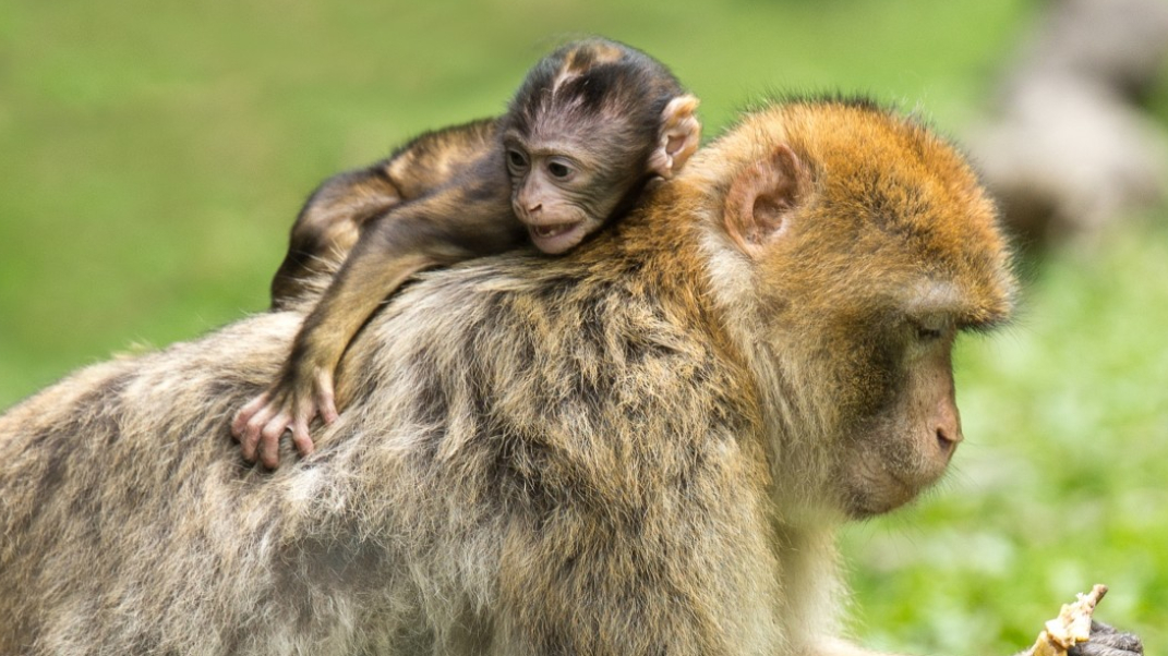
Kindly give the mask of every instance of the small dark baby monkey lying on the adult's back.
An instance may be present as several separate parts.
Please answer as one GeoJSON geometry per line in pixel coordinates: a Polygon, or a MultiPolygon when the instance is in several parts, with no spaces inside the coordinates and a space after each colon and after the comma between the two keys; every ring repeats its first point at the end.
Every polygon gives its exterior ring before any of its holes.
{"type": "Polygon", "coordinates": [[[356,245],[277,382],[232,421],[244,458],[258,451],[276,467],[287,428],[301,454],[312,452],[308,423],[318,412],[336,419],[333,379],[346,347],[406,278],[528,239],[545,253],[576,246],[651,179],[684,165],[700,139],[696,106],[644,53],[599,39],[570,43],[536,64],[503,117],[425,134],[326,181],[292,230],[273,305],[301,292],[322,253],[356,245]]]}

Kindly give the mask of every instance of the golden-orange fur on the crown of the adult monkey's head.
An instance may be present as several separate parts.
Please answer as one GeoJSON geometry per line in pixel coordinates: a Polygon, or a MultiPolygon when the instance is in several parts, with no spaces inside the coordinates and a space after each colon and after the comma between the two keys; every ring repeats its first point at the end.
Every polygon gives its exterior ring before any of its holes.
{"type": "MultiPolygon", "coordinates": [[[[896,247],[904,252],[909,274],[916,273],[915,266],[926,267],[961,280],[983,300],[969,308],[971,321],[994,322],[1008,314],[1014,281],[995,208],[951,144],[918,121],[867,100],[794,100],[743,117],[703,149],[687,173],[701,183],[725,184],[735,168],[767,158],[781,144],[812,168],[812,211],[821,219],[800,229],[818,230],[812,238],[822,243],[825,252],[808,254],[835,256],[833,246],[855,253],[868,246],[894,247],[897,242],[887,236],[899,233],[903,239],[896,247]],[[853,237],[861,240],[833,244],[853,237]],[[927,249],[912,251],[913,246],[927,249]]],[[[819,264],[814,257],[805,261],[819,264]]],[[[837,263],[826,270],[847,271],[837,263]]],[[[862,275],[864,270],[849,273],[862,275]]]]}

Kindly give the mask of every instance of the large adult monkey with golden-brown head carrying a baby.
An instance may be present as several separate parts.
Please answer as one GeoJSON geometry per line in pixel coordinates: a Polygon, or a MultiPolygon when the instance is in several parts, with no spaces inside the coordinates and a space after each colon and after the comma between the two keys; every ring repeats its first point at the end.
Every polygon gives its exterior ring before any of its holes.
{"type": "Polygon", "coordinates": [[[345,363],[350,411],[271,476],[225,419],[297,315],[14,409],[0,652],[854,654],[833,533],[961,440],[952,341],[1013,285],[990,203],[924,128],[823,102],[642,207],[406,291],[345,363]]]}

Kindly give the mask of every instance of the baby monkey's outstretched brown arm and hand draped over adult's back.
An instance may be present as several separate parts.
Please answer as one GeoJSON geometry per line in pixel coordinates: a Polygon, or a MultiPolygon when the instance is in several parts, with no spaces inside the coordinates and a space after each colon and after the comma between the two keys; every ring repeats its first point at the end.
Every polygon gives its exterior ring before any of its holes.
{"type": "Polygon", "coordinates": [[[433,266],[498,253],[526,242],[510,207],[510,184],[499,152],[466,167],[446,186],[369,219],[332,285],[305,319],[276,384],[245,405],[231,431],[243,456],[279,462],[283,433],[297,449],[313,442],[308,424],[336,418],[333,376],[353,336],[410,275],[433,266]]]}

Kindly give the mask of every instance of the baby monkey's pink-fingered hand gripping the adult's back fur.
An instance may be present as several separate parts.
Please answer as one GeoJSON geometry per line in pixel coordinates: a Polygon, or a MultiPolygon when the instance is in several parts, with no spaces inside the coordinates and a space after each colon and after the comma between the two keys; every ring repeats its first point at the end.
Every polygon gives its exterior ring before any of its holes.
{"type": "Polygon", "coordinates": [[[301,456],[313,452],[308,423],[319,413],[325,424],[336,420],[331,375],[318,372],[308,385],[278,383],[239,409],[231,421],[231,434],[239,441],[243,459],[256,456],[270,469],[279,466],[280,438],[292,431],[292,444],[301,456]]]}

